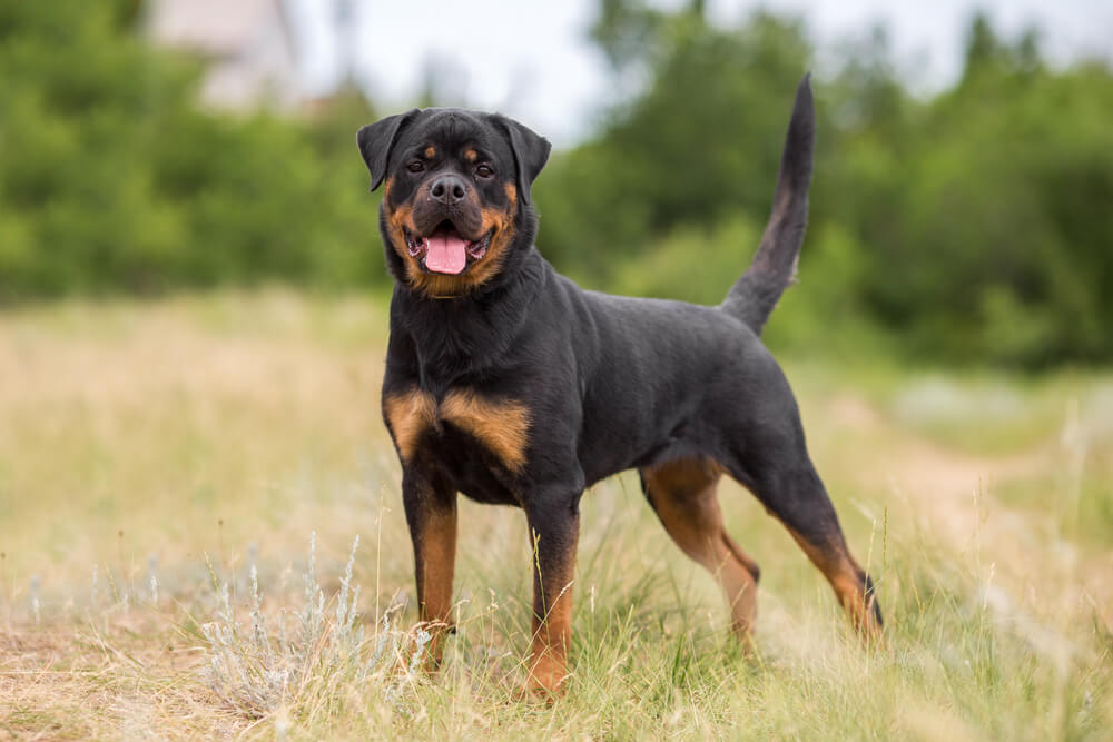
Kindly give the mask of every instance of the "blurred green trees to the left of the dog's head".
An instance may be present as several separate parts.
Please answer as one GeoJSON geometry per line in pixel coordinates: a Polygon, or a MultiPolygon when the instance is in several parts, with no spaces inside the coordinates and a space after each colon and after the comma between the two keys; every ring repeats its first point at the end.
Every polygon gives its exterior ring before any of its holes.
{"type": "Polygon", "coordinates": [[[366,107],[337,107],[343,159],[331,115],[201,110],[199,62],[148,47],[135,11],[0,4],[0,301],[381,280],[352,144],[366,107]]]}

